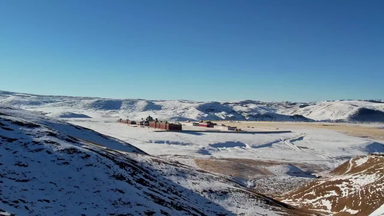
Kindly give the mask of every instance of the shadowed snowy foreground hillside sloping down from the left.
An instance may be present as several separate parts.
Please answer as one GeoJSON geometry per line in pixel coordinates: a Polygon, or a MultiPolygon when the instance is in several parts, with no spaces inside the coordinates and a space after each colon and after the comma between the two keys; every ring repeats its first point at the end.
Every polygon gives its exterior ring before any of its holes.
{"type": "Polygon", "coordinates": [[[0,106],[2,215],[319,215],[123,141],[0,106]]]}

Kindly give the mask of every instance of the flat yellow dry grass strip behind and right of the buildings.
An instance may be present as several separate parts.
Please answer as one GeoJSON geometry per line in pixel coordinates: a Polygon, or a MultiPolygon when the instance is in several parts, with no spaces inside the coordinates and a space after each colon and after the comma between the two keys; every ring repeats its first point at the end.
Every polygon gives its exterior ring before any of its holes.
{"type": "Polygon", "coordinates": [[[237,126],[239,128],[254,127],[268,128],[278,130],[296,129],[326,129],[333,130],[348,136],[356,136],[369,138],[374,140],[384,140],[384,124],[354,124],[354,123],[323,123],[323,122],[273,122],[273,121],[241,121],[240,123],[232,123],[226,121],[213,121],[217,124],[225,124],[228,126],[237,126]]]}

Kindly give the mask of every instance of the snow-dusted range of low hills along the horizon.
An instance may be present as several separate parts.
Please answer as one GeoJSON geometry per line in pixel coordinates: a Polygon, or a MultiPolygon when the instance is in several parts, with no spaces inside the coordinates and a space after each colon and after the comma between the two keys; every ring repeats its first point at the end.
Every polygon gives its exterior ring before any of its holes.
{"type": "Polygon", "coordinates": [[[107,99],[32,95],[0,91],[0,105],[40,111],[56,117],[139,119],[151,115],[171,121],[348,121],[384,122],[384,100],[321,102],[255,101],[200,102],[189,100],[107,99]],[[68,112],[73,115],[68,115],[68,112]]]}

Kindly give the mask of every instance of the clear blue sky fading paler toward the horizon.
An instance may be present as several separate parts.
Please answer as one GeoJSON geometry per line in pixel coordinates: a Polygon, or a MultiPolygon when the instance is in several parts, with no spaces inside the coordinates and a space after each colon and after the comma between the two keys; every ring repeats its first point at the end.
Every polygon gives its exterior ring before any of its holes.
{"type": "Polygon", "coordinates": [[[384,1],[0,1],[0,90],[384,99],[384,1]]]}

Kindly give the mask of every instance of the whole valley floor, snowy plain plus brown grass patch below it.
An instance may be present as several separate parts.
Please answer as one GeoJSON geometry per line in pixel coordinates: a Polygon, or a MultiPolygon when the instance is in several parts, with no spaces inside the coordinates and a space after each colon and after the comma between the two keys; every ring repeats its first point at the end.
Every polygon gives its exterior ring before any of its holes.
{"type": "MultiPolygon", "coordinates": [[[[300,187],[314,178],[298,177],[300,175],[297,173],[273,174],[267,170],[270,166],[292,164],[304,173],[324,176],[349,158],[382,151],[384,145],[380,140],[339,133],[340,131],[335,129],[337,126],[325,126],[332,125],[329,123],[226,123],[243,126],[244,129],[250,125],[258,127],[254,130],[279,128],[279,130],[292,131],[278,134],[241,134],[204,131],[156,133],[146,128],[116,123],[114,118],[71,118],[69,120],[75,125],[131,143],[150,155],[166,157],[195,168],[230,175],[249,188],[258,189],[272,197],[300,187]]],[[[355,131],[359,128],[366,128],[366,130],[377,128],[377,125],[370,127],[371,125],[368,124],[343,125],[346,128],[356,127],[355,131]]]]}

